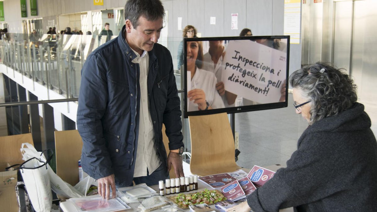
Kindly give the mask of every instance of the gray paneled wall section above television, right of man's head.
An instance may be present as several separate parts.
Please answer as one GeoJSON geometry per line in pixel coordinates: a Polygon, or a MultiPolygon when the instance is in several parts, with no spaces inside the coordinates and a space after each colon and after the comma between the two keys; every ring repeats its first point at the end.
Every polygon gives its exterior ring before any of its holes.
{"type": "MultiPolygon", "coordinates": [[[[238,36],[243,28],[250,28],[253,35],[283,35],[284,0],[166,0],[168,11],[169,49],[176,49],[182,39],[178,30],[178,17],[182,17],[182,28],[193,25],[201,37],[238,36]],[[231,29],[231,14],[238,14],[238,29],[231,29]],[[216,25],[210,24],[216,17],[216,25]]],[[[301,44],[290,48],[290,73],[301,68],[301,44]]],[[[173,60],[175,61],[175,60],[173,60]]]]}

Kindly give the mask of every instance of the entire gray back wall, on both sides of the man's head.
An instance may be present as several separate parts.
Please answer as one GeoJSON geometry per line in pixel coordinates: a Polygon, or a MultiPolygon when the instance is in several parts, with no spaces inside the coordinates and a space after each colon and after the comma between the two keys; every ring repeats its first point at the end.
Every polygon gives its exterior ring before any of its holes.
{"type": "MultiPolygon", "coordinates": [[[[5,23],[10,32],[22,32],[21,20],[72,14],[85,11],[122,8],[125,0],[104,0],[103,6],[94,6],[93,0],[38,0],[38,16],[21,18],[20,1],[6,0],[5,23]]],[[[178,49],[182,31],[178,30],[178,17],[182,17],[182,28],[193,25],[202,37],[237,36],[243,28],[250,28],[253,35],[282,35],[284,27],[284,0],[162,0],[168,11],[169,49],[178,49]],[[238,29],[231,29],[231,14],[238,14],[238,29]],[[216,17],[216,25],[210,24],[216,17]]],[[[55,19],[56,20],[56,19],[55,19]]],[[[57,21],[55,21],[56,23],[57,21]]],[[[47,25],[47,23],[46,23],[47,25]]],[[[65,26],[64,26],[65,27],[65,26]]],[[[111,27],[111,26],[110,26],[111,27]]],[[[44,28],[46,28],[44,24],[44,28]]],[[[61,26],[58,26],[60,30],[61,26]]],[[[173,58],[176,53],[173,53],[173,58]]],[[[301,45],[291,45],[290,70],[300,68],[301,45]]]]}

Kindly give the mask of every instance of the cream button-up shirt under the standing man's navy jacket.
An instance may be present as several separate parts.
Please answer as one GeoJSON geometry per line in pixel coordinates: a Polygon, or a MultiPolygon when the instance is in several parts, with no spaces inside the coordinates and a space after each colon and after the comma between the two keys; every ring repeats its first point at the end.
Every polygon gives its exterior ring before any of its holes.
{"type": "MultiPolygon", "coordinates": [[[[133,51],[133,49],[132,49],[133,51]]],[[[133,177],[147,176],[147,169],[149,174],[152,174],[161,164],[154,144],[154,133],[152,118],[149,113],[149,100],[148,100],[148,72],[149,72],[149,55],[144,51],[140,56],[136,51],[136,58],[132,63],[139,63],[140,66],[140,115],[139,115],[139,137],[138,147],[136,151],[135,171],[133,177]]]]}

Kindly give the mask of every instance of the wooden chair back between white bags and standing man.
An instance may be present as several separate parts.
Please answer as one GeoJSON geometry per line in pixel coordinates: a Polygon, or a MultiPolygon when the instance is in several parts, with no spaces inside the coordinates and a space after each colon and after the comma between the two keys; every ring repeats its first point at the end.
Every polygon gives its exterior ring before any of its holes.
{"type": "Polygon", "coordinates": [[[78,181],[78,160],[83,141],[77,130],[55,131],[56,174],[75,186],[78,181]]]}

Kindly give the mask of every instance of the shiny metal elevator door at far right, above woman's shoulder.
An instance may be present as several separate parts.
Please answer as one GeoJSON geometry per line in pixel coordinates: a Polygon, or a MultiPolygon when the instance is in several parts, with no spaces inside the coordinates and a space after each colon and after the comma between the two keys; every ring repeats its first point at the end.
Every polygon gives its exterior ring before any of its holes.
{"type": "Polygon", "coordinates": [[[345,68],[362,101],[377,102],[377,1],[334,2],[333,60],[345,68]]]}

